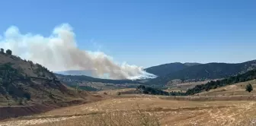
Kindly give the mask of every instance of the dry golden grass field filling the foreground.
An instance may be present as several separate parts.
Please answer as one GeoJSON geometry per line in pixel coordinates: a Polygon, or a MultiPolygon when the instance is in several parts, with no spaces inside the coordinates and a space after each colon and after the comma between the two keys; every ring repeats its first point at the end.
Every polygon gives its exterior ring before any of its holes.
{"type": "Polygon", "coordinates": [[[255,125],[255,101],[117,97],[0,122],[3,125],[255,125]]]}

